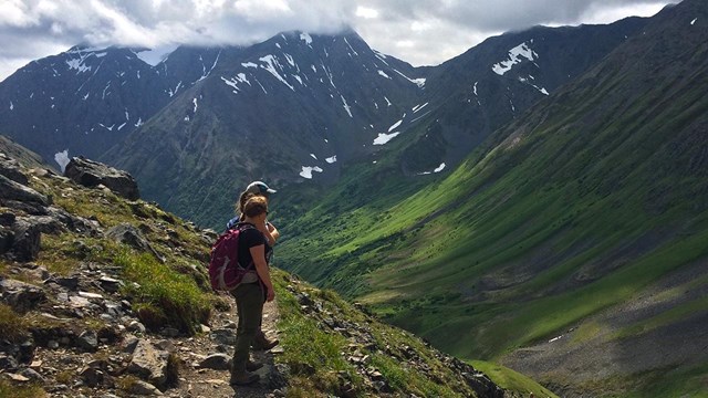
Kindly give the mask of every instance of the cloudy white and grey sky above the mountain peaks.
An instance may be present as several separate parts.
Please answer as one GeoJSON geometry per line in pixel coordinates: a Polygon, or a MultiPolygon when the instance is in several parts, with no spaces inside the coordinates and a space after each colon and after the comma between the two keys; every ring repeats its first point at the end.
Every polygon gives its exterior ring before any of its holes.
{"type": "Polygon", "coordinates": [[[353,28],[373,49],[437,65],[485,39],[538,24],[649,17],[680,0],[0,0],[0,81],[83,43],[252,44],[282,31],[353,28]]]}

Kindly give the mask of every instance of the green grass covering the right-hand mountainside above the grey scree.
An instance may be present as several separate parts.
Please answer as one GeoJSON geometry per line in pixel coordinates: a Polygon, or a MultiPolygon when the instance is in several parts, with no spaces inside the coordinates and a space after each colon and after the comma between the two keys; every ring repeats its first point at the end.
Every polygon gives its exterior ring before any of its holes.
{"type": "MultiPolygon", "coordinates": [[[[499,358],[629,300],[708,258],[706,54],[702,43],[667,55],[673,70],[656,75],[607,63],[408,198],[388,196],[413,190],[397,182],[337,214],[342,192],[327,195],[296,222],[306,238],[287,242],[288,266],[468,358],[499,358]]],[[[655,322],[705,311],[700,301],[655,322]]]]}

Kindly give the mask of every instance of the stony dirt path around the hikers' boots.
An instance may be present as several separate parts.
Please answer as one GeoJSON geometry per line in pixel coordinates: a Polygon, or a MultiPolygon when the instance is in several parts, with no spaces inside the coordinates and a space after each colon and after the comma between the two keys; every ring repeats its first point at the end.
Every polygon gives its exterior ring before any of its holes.
{"type": "MultiPolygon", "coordinates": [[[[237,323],[236,305],[231,303],[231,310],[228,313],[219,313],[215,315],[211,327],[219,328],[232,323],[237,323]]],[[[274,302],[266,303],[263,307],[263,331],[270,337],[277,337],[275,323],[278,321],[278,306],[274,302]]],[[[208,334],[194,338],[186,338],[181,342],[180,357],[186,362],[179,373],[179,385],[170,388],[165,392],[168,397],[205,397],[205,398],[226,398],[226,397],[278,397],[284,396],[273,386],[278,371],[274,368],[273,357],[282,352],[282,348],[275,347],[272,350],[251,350],[251,358],[263,363],[264,366],[257,373],[261,377],[259,383],[248,387],[229,386],[228,370],[199,369],[192,365],[192,358],[198,356],[207,356],[218,353],[218,344],[215,343],[208,334]]],[[[178,343],[178,344],[179,344],[178,343]]],[[[233,347],[228,347],[226,352],[229,356],[233,354],[233,347]]]]}

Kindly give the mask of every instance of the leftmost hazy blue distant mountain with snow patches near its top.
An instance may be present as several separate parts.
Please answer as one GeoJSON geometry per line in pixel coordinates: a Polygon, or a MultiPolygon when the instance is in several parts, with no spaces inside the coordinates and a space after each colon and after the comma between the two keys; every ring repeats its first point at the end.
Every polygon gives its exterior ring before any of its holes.
{"type": "Polygon", "coordinates": [[[218,55],[181,49],[153,66],[142,52],[77,45],[31,62],[0,84],[4,134],[60,167],[75,155],[98,157],[208,74],[218,55]]]}

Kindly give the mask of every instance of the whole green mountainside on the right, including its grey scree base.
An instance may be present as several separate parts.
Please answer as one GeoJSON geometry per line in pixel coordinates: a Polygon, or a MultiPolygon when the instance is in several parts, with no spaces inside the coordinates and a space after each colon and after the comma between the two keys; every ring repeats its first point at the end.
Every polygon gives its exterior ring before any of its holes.
{"type": "Polygon", "coordinates": [[[663,10],[421,189],[353,167],[281,260],[563,396],[705,394],[707,22],[663,10]]]}

